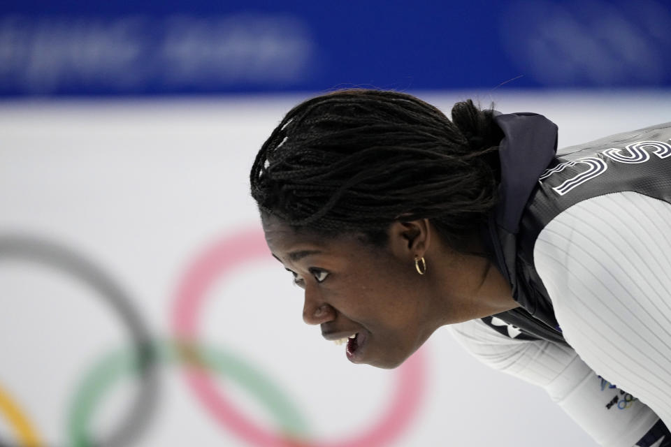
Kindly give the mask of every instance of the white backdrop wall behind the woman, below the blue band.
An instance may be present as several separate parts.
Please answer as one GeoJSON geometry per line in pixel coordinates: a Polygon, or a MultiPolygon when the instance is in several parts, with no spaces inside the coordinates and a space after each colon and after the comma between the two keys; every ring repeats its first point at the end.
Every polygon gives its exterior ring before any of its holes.
{"type": "MultiPolygon", "coordinates": [[[[446,112],[472,94],[419,92],[446,112]]],[[[85,256],[157,340],[185,318],[180,286],[212,279],[193,321],[199,346],[223,356],[225,371],[212,372],[218,397],[197,397],[185,362],[161,363],[158,405],[131,445],[273,445],[284,420],[308,439],[295,446],[593,446],[542,390],[480,365],[447,328],[385,371],[350,364],[344,346],[303,324],[291,275],[252,248],[260,226],[248,173],[283,113],[306,96],[0,104],[0,242],[39,238],[85,256]],[[222,265],[193,270],[212,250],[222,265]],[[274,393],[274,409],[263,393],[274,393]]],[[[559,125],[560,147],[671,121],[670,91],[475,96],[503,112],[543,113],[559,125]]],[[[129,334],[100,293],[3,247],[0,440],[76,445],[83,377],[127,348],[129,334]]],[[[86,430],[115,432],[141,386],[129,374],[105,388],[81,410],[86,430]]]]}

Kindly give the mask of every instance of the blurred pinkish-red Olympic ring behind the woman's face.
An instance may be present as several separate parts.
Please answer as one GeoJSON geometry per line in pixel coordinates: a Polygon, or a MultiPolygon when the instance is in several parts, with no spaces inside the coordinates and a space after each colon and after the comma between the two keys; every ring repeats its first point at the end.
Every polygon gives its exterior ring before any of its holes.
{"type": "MultiPolygon", "coordinates": [[[[205,302],[206,292],[217,277],[225,277],[229,270],[259,258],[270,258],[260,230],[247,230],[226,237],[197,257],[178,288],[173,309],[173,328],[177,339],[194,343],[199,310],[205,302]]],[[[393,441],[405,430],[419,407],[426,374],[424,354],[420,350],[398,369],[394,400],[377,425],[359,437],[335,442],[291,440],[274,434],[236,410],[226,396],[217,390],[210,376],[201,369],[187,368],[186,378],[196,396],[217,421],[252,445],[373,447],[393,441]]]]}

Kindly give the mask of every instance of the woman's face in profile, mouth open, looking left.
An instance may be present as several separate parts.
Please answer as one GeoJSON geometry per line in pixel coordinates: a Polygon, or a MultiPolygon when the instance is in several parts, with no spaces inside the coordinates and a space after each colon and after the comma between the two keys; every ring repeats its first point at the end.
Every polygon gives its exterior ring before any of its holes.
{"type": "Polygon", "coordinates": [[[324,238],[262,220],[270,251],[303,289],[303,320],[327,340],[346,339],[350,361],[396,367],[440,325],[412,256],[355,235],[324,238]]]}

